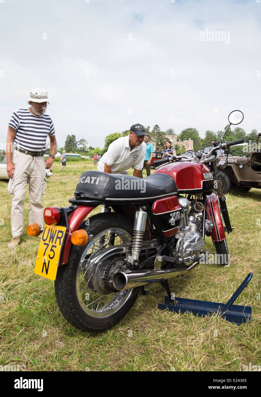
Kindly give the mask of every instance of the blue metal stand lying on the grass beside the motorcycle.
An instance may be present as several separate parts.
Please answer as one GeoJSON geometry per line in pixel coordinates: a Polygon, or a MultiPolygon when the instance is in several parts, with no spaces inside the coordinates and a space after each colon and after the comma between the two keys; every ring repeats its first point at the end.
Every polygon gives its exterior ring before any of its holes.
{"type": "Polygon", "coordinates": [[[236,292],[233,293],[229,301],[224,303],[196,301],[195,299],[185,299],[175,297],[177,304],[174,306],[170,304],[170,299],[165,297],[165,303],[158,303],[158,309],[170,310],[171,312],[181,313],[191,312],[195,316],[211,316],[213,313],[220,314],[227,321],[240,325],[246,323],[247,320],[251,321],[251,306],[238,306],[232,304],[240,295],[243,289],[248,285],[253,273],[249,273],[244,281],[240,284],[236,292]]]}

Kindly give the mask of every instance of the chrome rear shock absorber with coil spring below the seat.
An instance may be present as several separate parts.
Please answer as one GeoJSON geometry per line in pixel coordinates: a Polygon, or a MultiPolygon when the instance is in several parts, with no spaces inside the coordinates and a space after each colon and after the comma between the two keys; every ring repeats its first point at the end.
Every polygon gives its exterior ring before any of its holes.
{"type": "Polygon", "coordinates": [[[146,219],[147,212],[143,211],[142,208],[140,208],[139,211],[136,211],[133,226],[131,258],[129,257],[128,259],[128,262],[132,262],[134,267],[138,266],[139,253],[141,252],[141,245],[146,227],[146,219]]]}

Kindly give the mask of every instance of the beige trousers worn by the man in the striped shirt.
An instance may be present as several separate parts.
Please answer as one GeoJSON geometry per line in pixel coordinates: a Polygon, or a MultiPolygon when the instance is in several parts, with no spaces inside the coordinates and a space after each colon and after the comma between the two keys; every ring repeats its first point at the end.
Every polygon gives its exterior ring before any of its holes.
{"type": "Polygon", "coordinates": [[[11,208],[12,236],[21,236],[23,232],[23,208],[25,189],[29,187],[29,225],[44,225],[44,208],[41,204],[45,193],[44,156],[32,157],[29,154],[13,150],[12,162],[15,166],[13,179],[9,179],[8,192],[13,195],[11,208]]]}

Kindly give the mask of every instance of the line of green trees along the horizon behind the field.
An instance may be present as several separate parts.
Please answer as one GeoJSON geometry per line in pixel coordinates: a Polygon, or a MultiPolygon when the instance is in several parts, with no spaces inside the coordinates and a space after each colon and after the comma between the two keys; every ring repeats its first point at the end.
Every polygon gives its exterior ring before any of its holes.
{"type": "MultiPolygon", "coordinates": [[[[226,128],[227,126],[225,127],[225,129],[226,128]]],[[[150,141],[155,146],[156,152],[160,152],[164,150],[167,139],[166,135],[175,135],[175,131],[173,128],[168,128],[166,131],[161,131],[158,124],[155,124],[151,131],[150,131],[150,126],[145,127],[145,130],[146,133],[150,135],[150,141]]],[[[211,141],[213,141],[213,139],[217,139],[220,141],[221,135],[223,134],[224,131],[220,130],[214,132],[207,130],[205,132],[204,138],[201,138],[198,133],[198,130],[196,128],[190,127],[183,129],[181,133],[177,135],[177,141],[186,141],[189,138],[192,139],[193,150],[197,152],[198,150],[200,150],[200,148],[204,148],[207,145],[211,145],[211,141]]],[[[61,153],[63,150],[66,150],[67,153],[79,153],[91,157],[93,157],[95,153],[97,154],[99,153],[103,155],[105,152],[107,152],[110,143],[112,143],[113,141],[115,141],[120,137],[125,137],[126,135],[129,135],[129,133],[130,130],[126,129],[125,131],[122,132],[114,132],[112,134],[107,135],[107,137],[105,137],[104,148],[100,148],[99,146],[97,146],[96,148],[92,146],[88,146],[88,142],[84,138],[80,139],[80,141],[77,141],[75,135],[67,135],[65,145],[63,147],[57,148],[57,151],[61,153]]],[[[246,134],[246,131],[243,128],[240,127],[236,127],[234,129],[229,128],[224,136],[224,141],[230,142],[240,138],[244,138],[246,142],[248,141],[255,142],[257,138],[257,130],[252,129],[250,134],[246,134]]],[[[181,154],[185,152],[185,146],[180,147],[179,144],[173,146],[175,146],[175,150],[177,154],[181,154]]],[[[46,153],[48,153],[48,150],[46,151],[46,153]]],[[[233,148],[231,147],[230,153],[233,156],[244,156],[246,154],[243,152],[243,146],[236,146],[233,148]]]]}

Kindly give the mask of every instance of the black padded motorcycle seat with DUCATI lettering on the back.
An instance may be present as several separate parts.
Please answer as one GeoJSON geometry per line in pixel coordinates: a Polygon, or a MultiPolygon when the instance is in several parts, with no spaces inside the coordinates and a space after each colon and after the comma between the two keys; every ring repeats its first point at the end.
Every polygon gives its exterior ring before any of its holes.
{"type": "Polygon", "coordinates": [[[99,171],[83,172],[76,185],[77,200],[148,200],[177,194],[170,175],[154,173],[145,178],[99,171]]]}

